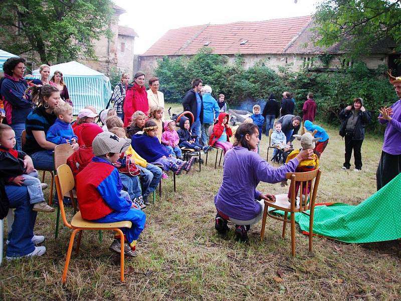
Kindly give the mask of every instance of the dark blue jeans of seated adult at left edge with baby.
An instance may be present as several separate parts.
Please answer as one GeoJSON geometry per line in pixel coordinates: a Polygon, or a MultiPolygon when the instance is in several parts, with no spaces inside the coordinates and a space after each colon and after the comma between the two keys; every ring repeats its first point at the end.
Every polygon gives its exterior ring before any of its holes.
{"type": "Polygon", "coordinates": [[[10,208],[15,208],[14,223],[8,237],[10,242],[7,246],[7,256],[24,256],[35,250],[35,244],[31,239],[34,236],[37,212],[32,211],[33,205],[29,203],[27,187],[6,185],[5,189],[10,208]]]}

